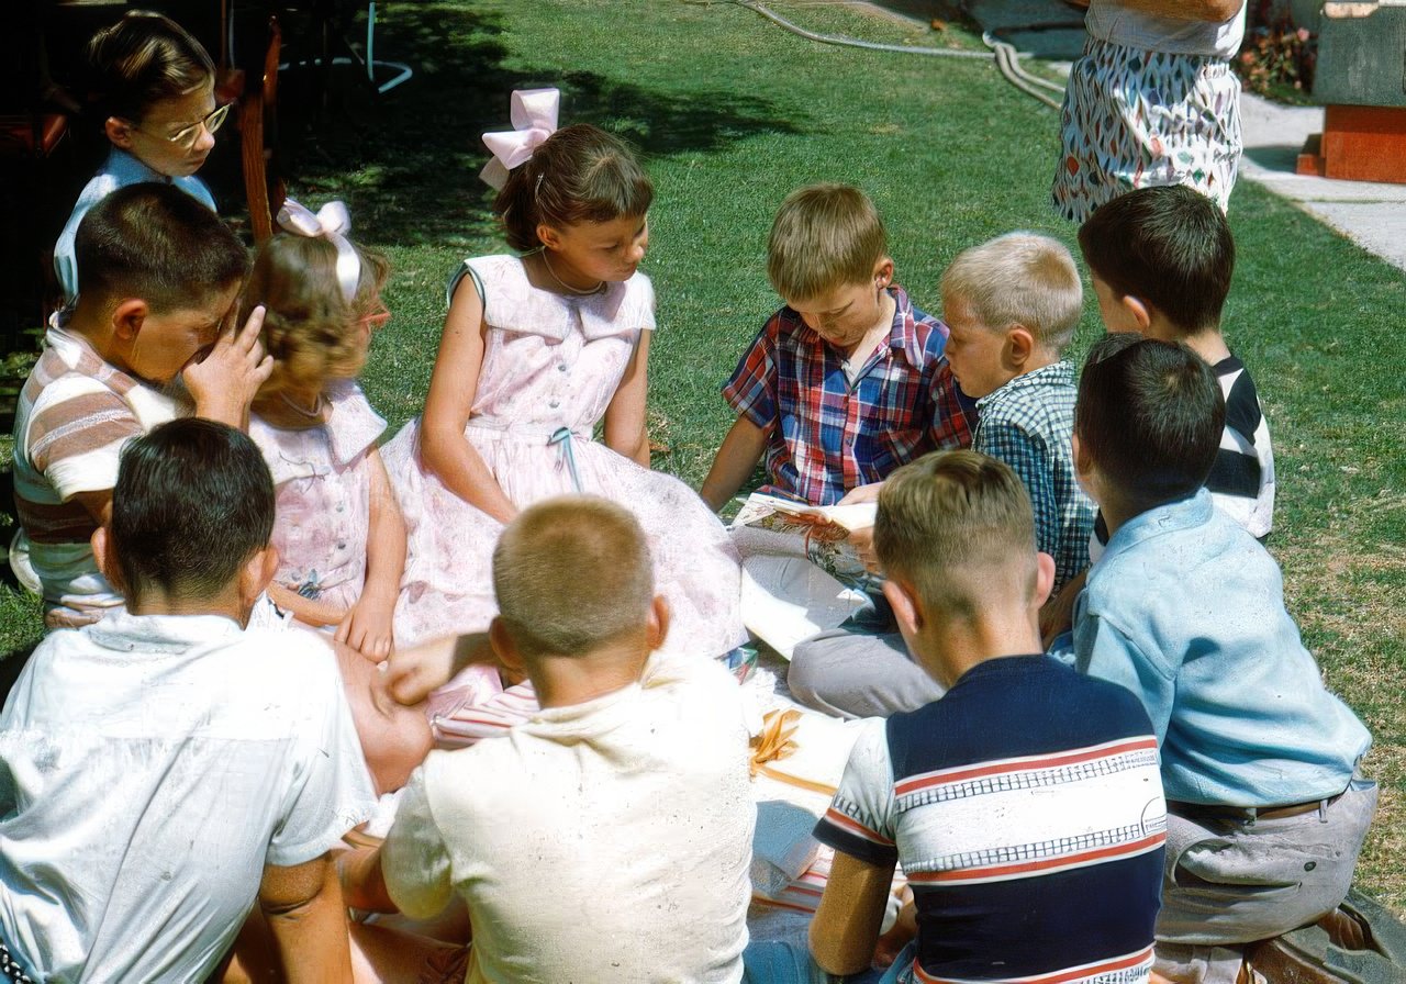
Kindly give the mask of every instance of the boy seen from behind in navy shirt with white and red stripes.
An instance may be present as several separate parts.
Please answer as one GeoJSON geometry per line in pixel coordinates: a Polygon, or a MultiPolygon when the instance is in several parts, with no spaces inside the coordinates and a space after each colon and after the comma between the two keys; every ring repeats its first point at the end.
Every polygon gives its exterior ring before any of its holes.
{"type": "Polygon", "coordinates": [[[815,828],[835,848],[815,962],[869,966],[901,862],[917,938],[886,980],[1146,981],[1156,739],[1130,693],[1040,655],[1054,565],[1021,479],[973,451],[928,455],[886,482],[875,545],[903,637],[948,692],[859,734],[815,828]]]}

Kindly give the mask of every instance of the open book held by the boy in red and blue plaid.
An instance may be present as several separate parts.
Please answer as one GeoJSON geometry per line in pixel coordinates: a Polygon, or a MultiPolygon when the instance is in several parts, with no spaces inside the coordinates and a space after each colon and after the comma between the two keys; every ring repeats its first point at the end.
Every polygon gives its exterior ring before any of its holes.
{"type": "Polygon", "coordinates": [[[790,659],[796,644],[868,603],[863,561],[846,543],[877,506],[807,506],[754,492],[733,520],[742,555],[742,623],[790,659]]]}

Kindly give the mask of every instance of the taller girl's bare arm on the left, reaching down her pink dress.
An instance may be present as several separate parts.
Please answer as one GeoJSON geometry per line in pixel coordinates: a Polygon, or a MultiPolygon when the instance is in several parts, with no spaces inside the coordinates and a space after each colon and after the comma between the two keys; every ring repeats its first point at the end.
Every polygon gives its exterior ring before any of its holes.
{"type": "Polygon", "coordinates": [[[430,392],[420,419],[420,462],[460,499],[499,523],[509,523],[517,507],[503,495],[484,458],[464,437],[464,426],[478,394],[485,347],[484,302],[474,278],[465,276],[454,288],[430,375],[430,392]]]}

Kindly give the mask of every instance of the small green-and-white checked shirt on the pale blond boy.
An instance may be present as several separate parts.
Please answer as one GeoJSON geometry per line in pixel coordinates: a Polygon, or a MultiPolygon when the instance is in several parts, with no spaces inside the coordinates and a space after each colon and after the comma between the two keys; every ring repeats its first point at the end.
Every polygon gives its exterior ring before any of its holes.
{"type": "Polygon", "coordinates": [[[1018,375],[977,401],[972,448],[1015,470],[1035,506],[1035,541],[1054,558],[1054,589],[1088,567],[1094,503],[1074,478],[1074,367],[1054,363],[1018,375]]]}

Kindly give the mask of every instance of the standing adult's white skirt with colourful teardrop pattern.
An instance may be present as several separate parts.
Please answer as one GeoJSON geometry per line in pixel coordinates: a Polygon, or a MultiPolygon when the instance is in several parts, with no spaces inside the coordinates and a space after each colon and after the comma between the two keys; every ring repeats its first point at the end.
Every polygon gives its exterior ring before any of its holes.
{"type": "Polygon", "coordinates": [[[1070,70],[1054,211],[1087,219],[1111,198],[1187,184],[1225,211],[1240,163],[1240,80],[1219,58],[1090,38],[1070,70]]]}

